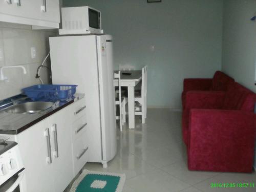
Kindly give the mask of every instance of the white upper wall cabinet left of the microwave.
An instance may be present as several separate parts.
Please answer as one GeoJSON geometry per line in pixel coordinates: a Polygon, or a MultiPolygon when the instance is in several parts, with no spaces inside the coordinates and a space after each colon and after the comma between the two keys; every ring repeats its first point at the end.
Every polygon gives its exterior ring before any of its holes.
{"type": "Polygon", "coordinates": [[[0,0],[0,21],[59,28],[59,0],[0,0]]]}

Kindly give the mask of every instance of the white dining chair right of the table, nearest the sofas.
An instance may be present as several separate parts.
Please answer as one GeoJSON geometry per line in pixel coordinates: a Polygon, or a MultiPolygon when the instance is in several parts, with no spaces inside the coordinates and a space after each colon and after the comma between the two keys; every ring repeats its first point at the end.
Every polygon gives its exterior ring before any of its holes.
{"type": "Polygon", "coordinates": [[[145,123],[147,112],[147,66],[142,68],[141,89],[135,91],[134,101],[139,103],[135,105],[135,115],[141,115],[142,123],[145,123]]]}

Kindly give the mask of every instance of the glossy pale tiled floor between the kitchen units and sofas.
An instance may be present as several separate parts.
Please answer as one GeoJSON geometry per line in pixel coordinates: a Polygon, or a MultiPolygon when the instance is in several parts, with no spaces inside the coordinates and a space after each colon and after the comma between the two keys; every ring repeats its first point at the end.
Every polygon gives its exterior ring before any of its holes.
{"type": "Polygon", "coordinates": [[[190,172],[181,138],[181,112],[148,109],[145,124],[117,129],[116,157],[104,169],[99,163],[85,168],[125,173],[123,192],[255,191],[256,174],[190,172]],[[211,183],[254,183],[255,188],[210,188],[211,183]]]}

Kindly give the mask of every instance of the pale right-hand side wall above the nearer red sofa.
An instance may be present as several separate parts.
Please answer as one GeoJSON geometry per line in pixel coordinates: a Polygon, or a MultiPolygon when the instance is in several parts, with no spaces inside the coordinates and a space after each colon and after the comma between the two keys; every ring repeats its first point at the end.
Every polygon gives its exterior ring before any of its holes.
{"type": "Polygon", "coordinates": [[[256,13],[254,0],[225,0],[222,70],[245,87],[254,86],[256,63],[256,13]]]}

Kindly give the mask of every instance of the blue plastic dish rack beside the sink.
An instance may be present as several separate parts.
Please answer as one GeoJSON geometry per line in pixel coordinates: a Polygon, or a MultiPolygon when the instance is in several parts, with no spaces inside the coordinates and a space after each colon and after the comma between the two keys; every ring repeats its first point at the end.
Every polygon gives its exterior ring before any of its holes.
{"type": "Polygon", "coordinates": [[[67,100],[76,93],[75,84],[36,84],[22,91],[32,100],[58,99],[67,100]]]}

